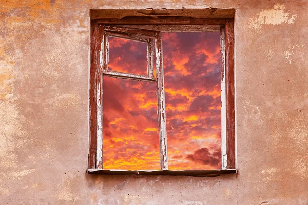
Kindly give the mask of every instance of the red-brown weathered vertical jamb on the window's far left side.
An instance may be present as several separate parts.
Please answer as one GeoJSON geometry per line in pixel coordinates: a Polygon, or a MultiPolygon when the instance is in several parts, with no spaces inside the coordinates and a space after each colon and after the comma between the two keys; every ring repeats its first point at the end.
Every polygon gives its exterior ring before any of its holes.
{"type": "Polygon", "coordinates": [[[97,20],[91,21],[91,48],[90,48],[90,89],[89,89],[89,109],[90,109],[90,146],[89,146],[89,168],[96,168],[96,136],[97,136],[97,37],[98,26],[97,20]]]}

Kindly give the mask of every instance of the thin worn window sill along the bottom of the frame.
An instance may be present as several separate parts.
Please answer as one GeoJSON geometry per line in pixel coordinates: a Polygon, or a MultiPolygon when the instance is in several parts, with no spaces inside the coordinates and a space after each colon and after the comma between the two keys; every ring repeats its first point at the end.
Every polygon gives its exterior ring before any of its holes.
{"type": "Polygon", "coordinates": [[[88,174],[103,175],[171,175],[171,176],[197,176],[197,177],[215,177],[221,174],[235,174],[237,169],[225,170],[105,170],[88,169],[88,174]]]}

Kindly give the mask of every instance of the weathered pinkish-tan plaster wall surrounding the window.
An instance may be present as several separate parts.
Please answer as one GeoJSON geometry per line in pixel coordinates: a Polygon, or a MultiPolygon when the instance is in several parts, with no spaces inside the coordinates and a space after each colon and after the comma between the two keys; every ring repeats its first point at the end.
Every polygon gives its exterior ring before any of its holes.
{"type": "Polygon", "coordinates": [[[1,204],[308,204],[308,2],[0,1],[1,204]],[[239,174],[99,176],[89,9],[235,8],[239,174]]]}

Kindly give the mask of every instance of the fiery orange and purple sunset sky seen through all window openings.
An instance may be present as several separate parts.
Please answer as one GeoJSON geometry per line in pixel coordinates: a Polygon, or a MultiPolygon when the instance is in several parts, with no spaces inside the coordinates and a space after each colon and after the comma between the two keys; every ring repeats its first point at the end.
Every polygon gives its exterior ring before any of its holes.
{"type": "MultiPolygon", "coordinates": [[[[162,39],[169,170],[221,169],[220,35],[162,39]]],[[[109,37],[108,68],[146,75],[146,48],[109,37]]],[[[159,170],[156,82],[103,80],[103,169],[159,170]]]]}

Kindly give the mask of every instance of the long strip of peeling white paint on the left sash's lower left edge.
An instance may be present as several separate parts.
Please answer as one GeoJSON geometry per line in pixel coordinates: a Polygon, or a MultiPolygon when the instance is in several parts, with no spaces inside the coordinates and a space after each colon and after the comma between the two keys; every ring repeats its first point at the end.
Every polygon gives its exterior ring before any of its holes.
{"type": "Polygon", "coordinates": [[[101,119],[101,103],[100,103],[100,92],[101,87],[100,83],[98,84],[98,90],[97,90],[97,151],[96,151],[96,165],[98,166],[101,162],[101,159],[103,157],[103,135],[102,135],[102,119],[101,119]]]}

